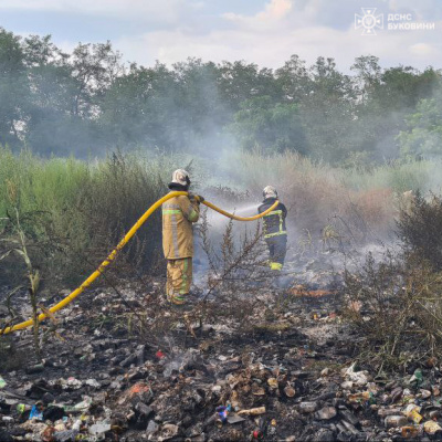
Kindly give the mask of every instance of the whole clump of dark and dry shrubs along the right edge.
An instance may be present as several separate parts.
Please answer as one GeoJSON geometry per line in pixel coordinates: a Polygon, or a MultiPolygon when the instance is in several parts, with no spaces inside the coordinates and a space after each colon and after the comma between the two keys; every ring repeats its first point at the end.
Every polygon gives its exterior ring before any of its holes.
{"type": "Polygon", "coordinates": [[[442,351],[442,199],[419,192],[398,220],[401,253],[368,255],[346,273],[347,318],[358,328],[360,357],[380,367],[442,351]]]}

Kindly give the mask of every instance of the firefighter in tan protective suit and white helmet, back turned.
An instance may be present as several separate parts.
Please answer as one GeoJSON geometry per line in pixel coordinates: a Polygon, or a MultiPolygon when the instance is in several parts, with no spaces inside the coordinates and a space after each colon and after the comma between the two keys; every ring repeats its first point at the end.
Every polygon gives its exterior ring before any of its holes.
{"type": "MultiPolygon", "coordinates": [[[[188,191],[189,173],[178,169],[169,183],[170,191],[188,191]]],[[[192,283],[193,229],[200,215],[202,197],[171,198],[162,204],[162,250],[167,260],[167,298],[185,305],[192,283]]]]}

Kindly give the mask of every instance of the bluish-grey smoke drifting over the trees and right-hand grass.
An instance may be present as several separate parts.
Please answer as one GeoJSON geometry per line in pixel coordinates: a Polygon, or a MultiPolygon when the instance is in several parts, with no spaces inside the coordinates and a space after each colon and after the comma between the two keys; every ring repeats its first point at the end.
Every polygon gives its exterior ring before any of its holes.
{"type": "MultiPolygon", "coordinates": [[[[434,160],[441,154],[439,129],[425,126],[434,123],[434,109],[422,102],[438,102],[435,70],[382,70],[372,56],[359,57],[352,75],[332,59],[307,66],[296,55],[276,71],[239,61],[189,59],[146,67],[120,60],[109,43],[80,44],[63,54],[50,38],[23,40],[0,29],[0,144],[15,151],[29,146],[42,156],[139,149],[151,162],[156,156],[168,164],[173,155],[177,162],[193,159],[197,189],[241,215],[256,213],[263,187],[272,183],[290,210],[287,260],[312,281],[308,260],[333,269],[328,250],[364,253],[376,243],[371,232],[388,236],[393,210],[379,208],[392,200],[371,191],[442,186],[434,160]],[[361,74],[366,67],[375,74],[370,81],[361,74]],[[417,109],[424,117],[408,123],[417,109]],[[413,155],[423,146],[430,160],[382,169],[387,159],[401,158],[404,146],[413,155]]],[[[164,170],[158,173],[168,180],[164,170]]],[[[209,211],[208,222],[220,253],[229,221],[209,211]]],[[[235,222],[236,241],[255,225],[235,222]]],[[[196,254],[199,281],[208,271],[199,240],[196,254]]]]}

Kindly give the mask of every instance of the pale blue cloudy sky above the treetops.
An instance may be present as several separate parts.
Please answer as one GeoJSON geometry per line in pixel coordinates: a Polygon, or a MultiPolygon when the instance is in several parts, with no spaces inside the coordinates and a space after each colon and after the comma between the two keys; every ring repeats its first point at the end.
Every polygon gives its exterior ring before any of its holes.
{"type": "Polygon", "coordinates": [[[332,56],[348,70],[373,54],[383,66],[442,67],[442,0],[0,0],[0,27],[52,34],[65,50],[110,40],[124,61],[143,65],[197,56],[278,67],[298,54],[308,63],[332,56]],[[389,14],[408,17],[390,22],[398,28],[434,29],[389,30],[389,14]]]}

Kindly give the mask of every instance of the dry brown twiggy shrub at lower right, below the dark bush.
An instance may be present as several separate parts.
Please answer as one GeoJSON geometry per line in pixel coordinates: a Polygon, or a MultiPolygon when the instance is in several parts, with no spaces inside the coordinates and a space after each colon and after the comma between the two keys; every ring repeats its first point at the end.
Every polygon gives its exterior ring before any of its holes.
{"type": "Polygon", "coordinates": [[[357,328],[359,358],[397,368],[442,350],[442,273],[422,260],[371,255],[346,273],[347,319],[357,328]]]}

